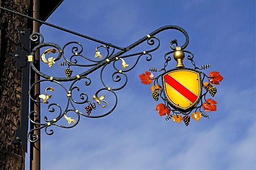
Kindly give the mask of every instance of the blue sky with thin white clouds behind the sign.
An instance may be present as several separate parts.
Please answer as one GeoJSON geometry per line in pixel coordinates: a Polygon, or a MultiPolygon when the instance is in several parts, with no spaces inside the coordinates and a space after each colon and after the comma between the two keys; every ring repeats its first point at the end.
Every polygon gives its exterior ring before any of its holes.
{"type": "MultiPolygon", "coordinates": [[[[161,101],[151,98],[150,86],[140,83],[139,74],[151,67],[161,69],[164,54],[171,51],[170,41],[178,39],[181,45],[185,38],[176,30],[159,33],[161,48],[152,53],[150,62],[142,57],[127,73],[128,83],[116,92],[118,105],[113,113],[98,119],[81,117],[72,129],[53,127],[50,136],[42,131],[41,169],[256,168],[255,1],[66,0],[47,22],[121,47],[164,25],[179,25],[188,32],[186,50],[194,53],[196,65],[211,64],[205,72],[219,71],[224,79],[217,86],[217,112],[210,112],[210,119],[191,120],[189,126],[166,122],[155,111],[161,101]]],[[[45,42],[61,47],[78,41],[86,56],[93,57],[101,45],[45,25],[41,33],[45,42]]],[[[143,44],[132,52],[148,48],[143,44]]],[[[175,64],[172,60],[169,69],[175,64]]],[[[63,74],[64,67],[61,72],[45,69],[63,74]]],[[[92,94],[103,87],[99,75],[99,71],[89,75],[95,79],[86,89],[92,94]]],[[[56,89],[52,101],[55,97],[65,103],[58,94],[61,90],[56,89]]],[[[42,105],[41,114],[51,116],[42,105]]]]}

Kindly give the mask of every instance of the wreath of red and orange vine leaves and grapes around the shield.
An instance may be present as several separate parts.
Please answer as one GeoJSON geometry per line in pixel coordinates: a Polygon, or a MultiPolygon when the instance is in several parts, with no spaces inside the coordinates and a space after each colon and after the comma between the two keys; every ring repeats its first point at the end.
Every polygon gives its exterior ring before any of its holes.
{"type": "MultiPolygon", "coordinates": [[[[202,66],[202,68],[205,69],[206,67],[202,66]]],[[[186,69],[178,68],[173,70],[184,71],[186,69]]],[[[199,72],[200,74],[203,74],[202,76],[203,79],[206,77],[209,81],[203,83],[203,80],[201,79],[202,88],[205,90],[205,92],[201,91],[198,97],[199,100],[197,101],[196,105],[189,109],[182,109],[182,108],[176,107],[175,104],[173,104],[173,101],[172,100],[170,101],[169,96],[166,95],[166,89],[165,89],[166,87],[163,86],[163,84],[160,84],[158,82],[159,78],[162,77],[163,79],[163,76],[171,71],[165,72],[156,78],[154,78],[154,74],[149,71],[145,71],[145,73],[142,73],[139,75],[141,83],[143,84],[149,85],[149,84],[152,84],[154,81],[154,85],[150,87],[151,96],[155,101],[158,101],[159,97],[161,97],[162,100],[164,101],[164,103],[159,103],[156,106],[156,111],[159,113],[160,116],[167,115],[166,121],[172,118],[173,122],[180,123],[181,121],[183,121],[185,122],[186,125],[189,125],[190,113],[191,113],[191,118],[198,122],[202,117],[209,118],[209,115],[206,114],[205,112],[209,113],[209,112],[217,111],[217,101],[215,101],[212,98],[206,99],[205,96],[207,94],[210,94],[211,97],[214,97],[215,94],[217,93],[217,88],[213,87],[213,84],[219,85],[220,82],[223,80],[222,75],[218,71],[211,71],[209,73],[209,76],[207,76],[203,72],[199,72]],[[203,98],[204,98],[204,102],[202,102],[203,98]],[[203,109],[203,111],[201,111],[201,108],[203,109]]]]}

